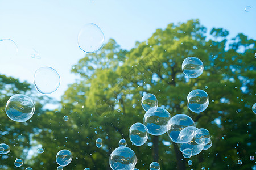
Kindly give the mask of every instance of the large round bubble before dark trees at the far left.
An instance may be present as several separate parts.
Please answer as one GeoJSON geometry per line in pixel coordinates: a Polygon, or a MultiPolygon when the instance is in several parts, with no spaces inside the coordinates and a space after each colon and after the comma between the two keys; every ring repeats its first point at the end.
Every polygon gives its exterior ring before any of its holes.
{"type": "Polygon", "coordinates": [[[16,122],[29,120],[35,111],[34,101],[23,94],[16,94],[10,97],[5,108],[7,116],[16,122]]]}

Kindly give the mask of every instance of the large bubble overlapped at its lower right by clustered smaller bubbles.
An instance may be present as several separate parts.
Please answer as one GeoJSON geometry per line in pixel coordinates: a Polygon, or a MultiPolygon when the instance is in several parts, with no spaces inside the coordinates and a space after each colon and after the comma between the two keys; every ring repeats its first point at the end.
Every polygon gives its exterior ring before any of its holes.
{"type": "Polygon", "coordinates": [[[170,139],[177,143],[177,138],[179,137],[180,131],[188,126],[196,126],[195,122],[191,117],[185,114],[176,114],[168,122],[168,135],[170,139]]]}

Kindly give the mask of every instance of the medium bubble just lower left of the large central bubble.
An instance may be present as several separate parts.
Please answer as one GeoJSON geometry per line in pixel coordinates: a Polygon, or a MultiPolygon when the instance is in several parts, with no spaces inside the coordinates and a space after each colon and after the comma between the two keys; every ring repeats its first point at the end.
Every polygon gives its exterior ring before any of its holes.
{"type": "Polygon", "coordinates": [[[148,139],[147,127],[141,123],[131,125],[129,129],[129,138],[134,145],[142,146],[148,139]]]}

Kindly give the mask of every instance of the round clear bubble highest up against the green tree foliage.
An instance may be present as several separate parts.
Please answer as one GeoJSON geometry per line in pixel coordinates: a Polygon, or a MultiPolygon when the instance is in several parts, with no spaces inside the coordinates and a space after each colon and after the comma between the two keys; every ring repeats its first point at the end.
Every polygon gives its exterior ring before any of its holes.
{"type": "Polygon", "coordinates": [[[188,57],[182,63],[182,71],[189,78],[197,78],[204,71],[203,62],[196,57],[188,57]]]}

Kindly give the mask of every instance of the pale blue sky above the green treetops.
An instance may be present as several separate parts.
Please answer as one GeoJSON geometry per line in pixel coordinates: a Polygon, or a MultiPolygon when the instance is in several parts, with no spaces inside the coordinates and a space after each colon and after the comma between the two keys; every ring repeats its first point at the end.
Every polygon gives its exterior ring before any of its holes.
{"type": "Polygon", "coordinates": [[[130,49],[156,28],[189,19],[200,19],[208,31],[221,27],[228,29],[229,37],[242,32],[256,39],[255,0],[0,0],[0,39],[12,39],[19,48],[12,58],[0,52],[0,73],[32,83],[36,69],[51,66],[60,74],[61,84],[49,96],[59,100],[75,80],[72,65],[85,55],[77,45],[84,24],[97,24],[105,41],[111,37],[130,49]],[[251,6],[250,12],[245,12],[246,6],[251,6]],[[30,57],[33,48],[41,59],[30,57]]]}

